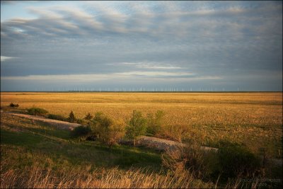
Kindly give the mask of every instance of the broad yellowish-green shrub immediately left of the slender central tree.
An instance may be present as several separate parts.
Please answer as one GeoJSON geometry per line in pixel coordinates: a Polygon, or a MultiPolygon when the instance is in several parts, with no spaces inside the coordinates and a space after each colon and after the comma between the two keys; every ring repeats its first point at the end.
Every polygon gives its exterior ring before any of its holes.
{"type": "Polygon", "coordinates": [[[96,113],[92,120],[91,129],[93,134],[97,135],[98,141],[107,144],[109,149],[125,134],[122,120],[114,121],[103,113],[96,113]]]}

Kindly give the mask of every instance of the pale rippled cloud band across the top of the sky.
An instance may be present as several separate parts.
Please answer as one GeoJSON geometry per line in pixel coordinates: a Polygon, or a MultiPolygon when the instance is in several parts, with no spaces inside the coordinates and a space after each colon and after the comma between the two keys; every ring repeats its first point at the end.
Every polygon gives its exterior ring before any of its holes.
{"type": "MultiPolygon", "coordinates": [[[[195,5],[193,2],[190,4],[195,5]]],[[[230,30],[226,34],[239,35],[237,33],[243,33],[244,27],[251,27],[251,25],[246,26],[245,23],[236,21],[238,18],[243,18],[245,14],[248,14],[249,17],[245,17],[245,22],[248,23],[257,18],[259,12],[265,14],[272,10],[276,13],[280,10],[276,4],[267,6],[267,9],[261,7],[251,9],[231,4],[226,8],[205,6],[202,8],[200,6],[195,10],[182,10],[178,4],[158,2],[156,9],[164,10],[158,12],[151,10],[149,5],[142,5],[141,3],[120,2],[116,3],[116,6],[111,6],[105,2],[93,2],[86,4],[87,8],[84,9],[75,5],[45,6],[44,8],[28,6],[29,11],[40,17],[33,20],[13,19],[4,22],[1,28],[10,29],[10,32],[13,31],[13,28],[19,28],[27,35],[60,36],[62,38],[74,34],[83,36],[100,32],[140,33],[155,37],[173,35],[171,38],[197,35],[205,37],[223,35],[218,31],[219,28],[224,27],[230,30]],[[236,18],[236,20],[231,23],[226,18],[236,18]]]]}

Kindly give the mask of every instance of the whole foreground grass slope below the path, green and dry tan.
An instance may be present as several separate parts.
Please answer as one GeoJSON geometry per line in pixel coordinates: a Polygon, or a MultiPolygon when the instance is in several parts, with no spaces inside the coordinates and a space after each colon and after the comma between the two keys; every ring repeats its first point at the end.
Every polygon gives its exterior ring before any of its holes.
{"type": "Polygon", "coordinates": [[[149,149],[70,139],[42,122],[1,115],[1,188],[210,188],[166,173],[149,149]]]}

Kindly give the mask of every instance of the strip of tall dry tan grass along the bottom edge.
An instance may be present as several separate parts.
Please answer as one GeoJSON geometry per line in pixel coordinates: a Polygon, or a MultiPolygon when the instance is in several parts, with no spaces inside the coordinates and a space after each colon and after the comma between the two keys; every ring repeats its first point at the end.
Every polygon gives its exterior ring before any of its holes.
{"type": "Polygon", "coordinates": [[[54,173],[40,166],[4,171],[5,166],[1,163],[1,188],[212,188],[212,183],[195,180],[185,172],[162,175],[145,169],[103,168],[88,173],[87,167],[81,167],[54,173]]]}

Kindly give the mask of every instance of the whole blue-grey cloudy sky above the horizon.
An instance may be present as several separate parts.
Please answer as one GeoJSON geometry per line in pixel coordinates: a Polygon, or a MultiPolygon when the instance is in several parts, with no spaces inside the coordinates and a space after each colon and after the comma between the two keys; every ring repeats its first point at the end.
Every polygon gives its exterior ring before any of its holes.
{"type": "Polygon", "coordinates": [[[1,91],[282,91],[282,1],[1,1],[1,91]]]}

